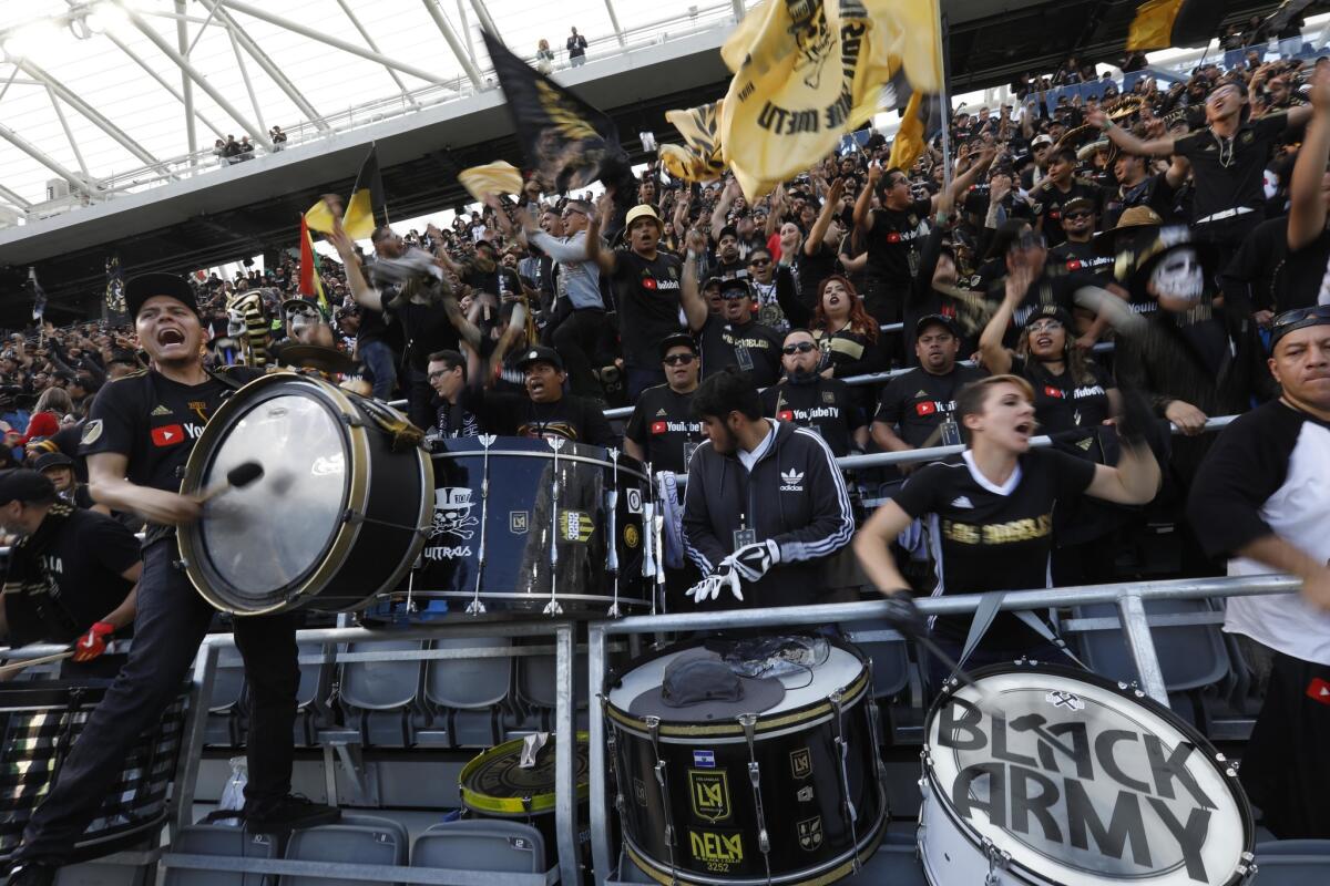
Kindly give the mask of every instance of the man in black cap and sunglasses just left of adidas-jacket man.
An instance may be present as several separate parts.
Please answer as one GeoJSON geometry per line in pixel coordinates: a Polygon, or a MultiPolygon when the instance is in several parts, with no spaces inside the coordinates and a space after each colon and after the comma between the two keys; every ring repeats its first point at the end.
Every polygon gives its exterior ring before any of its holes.
{"type": "Polygon", "coordinates": [[[697,341],[686,332],[661,340],[661,364],[666,384],[648,388],[633,405],[624,429],[624,452],[650,462],[653,470],[682,474],[693,450],[706,440],[702,422],[693,414],[693,393],[701,375],[697,341]]]}

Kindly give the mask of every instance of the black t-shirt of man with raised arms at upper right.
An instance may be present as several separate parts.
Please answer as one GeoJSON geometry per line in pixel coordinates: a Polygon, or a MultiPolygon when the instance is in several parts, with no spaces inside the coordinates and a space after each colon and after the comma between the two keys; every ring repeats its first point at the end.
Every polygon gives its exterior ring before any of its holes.
{"type": "Polygon", "coordinates": [[[1174,139],[1173,150],[1192,161],[1192,221],[1238,206],[1261,207],[1265,165],[1287,126],[1287,113],[1266,114],[1242,124],[1232,141],[1221,139],[1209,128],[1174,139]]]}

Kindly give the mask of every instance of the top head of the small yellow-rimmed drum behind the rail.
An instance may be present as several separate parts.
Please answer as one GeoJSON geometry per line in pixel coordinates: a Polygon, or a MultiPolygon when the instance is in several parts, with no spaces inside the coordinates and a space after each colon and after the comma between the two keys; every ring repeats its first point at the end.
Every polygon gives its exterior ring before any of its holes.
{"type": "MultiPolygon", "coordinates": [[[[485,751],[462,768],[458,786],[468,809],[487,816],[527,816],[552,812],[555,808],[555,747],[557,736],[536,756],[536,765],[521,766],[521,739],[505,741],[485,751]]],[[[577,733],[573,756],[573,780],[577,798],[591,796],[591,743],[585,732],[577,733]]]]}

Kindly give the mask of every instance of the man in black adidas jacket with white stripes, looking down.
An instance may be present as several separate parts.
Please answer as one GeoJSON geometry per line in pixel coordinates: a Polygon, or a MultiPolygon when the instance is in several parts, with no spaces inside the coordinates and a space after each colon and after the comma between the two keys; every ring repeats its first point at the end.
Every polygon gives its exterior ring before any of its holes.
{"type": "Polygon", "coordinates": [[[693,412],[709,440],[688,468],[684,547],[712,608],[819,602],[822,561],[850,543],[854,515],[831,450],[813,430],[762,417],[737,369],[702,383],[693,412]]]}

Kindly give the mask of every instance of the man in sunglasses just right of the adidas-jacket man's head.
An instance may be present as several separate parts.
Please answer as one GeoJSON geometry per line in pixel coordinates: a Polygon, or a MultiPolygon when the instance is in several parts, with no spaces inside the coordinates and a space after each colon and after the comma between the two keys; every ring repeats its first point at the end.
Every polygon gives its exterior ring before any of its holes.
{"type": "Polygon", "coordinates": [[[818,372],[822,352],[807,329],[791,329],[781,347],[781,383],[762,392],[762,412],[815,432],[831,454],[849,456],[850,449],[868,445],[868,428],[854,404],[850,385],[818,372]]]}

